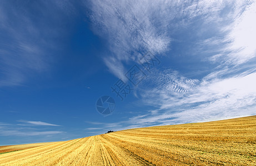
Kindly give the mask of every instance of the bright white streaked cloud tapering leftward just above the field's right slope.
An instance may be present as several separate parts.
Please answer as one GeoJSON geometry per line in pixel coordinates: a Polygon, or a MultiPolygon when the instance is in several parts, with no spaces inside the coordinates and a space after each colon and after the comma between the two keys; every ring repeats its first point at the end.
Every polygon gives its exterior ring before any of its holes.
{"type": "Polygon", "coordinates": [[[200,82],[187,94],[144,91],[147,105],[158,106],[147,115],[130,118],[133,124],[202,122],[255,115],[256,72],[200,82]],[[162,112],[160,112],[162,110],[162,112]],[[173,119],[172,119],[173,118],[173,119]]]}

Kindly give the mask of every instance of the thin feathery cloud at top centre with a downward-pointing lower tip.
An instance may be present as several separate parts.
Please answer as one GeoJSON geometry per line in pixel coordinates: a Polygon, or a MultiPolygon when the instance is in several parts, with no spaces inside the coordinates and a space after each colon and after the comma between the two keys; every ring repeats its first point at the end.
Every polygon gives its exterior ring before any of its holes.
{"type": "Polygon", "coordinates": [[[139,51],[163,53],[168,50],[168,23],[161,22],[166,15],[157,12],[159,8],[163,8],[163,3],[91,1],[91,4],[86,4],[91,10],[89,17],[94,32],[108,41],[111,55],[104,56],[104,62],[117,77],[125,79],[123,63],[138,60],[142,56],[139,51]]]}

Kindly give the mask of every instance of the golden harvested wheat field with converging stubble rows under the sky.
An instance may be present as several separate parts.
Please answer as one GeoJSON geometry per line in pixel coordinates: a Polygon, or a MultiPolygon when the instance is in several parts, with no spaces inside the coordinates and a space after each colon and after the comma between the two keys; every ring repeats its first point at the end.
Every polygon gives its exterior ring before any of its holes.
{"type": "Polygon", "coordinates": [[[256,165],[255,161],[256,116],[127,129],[0,154],[0,165],[256,165]]]}

